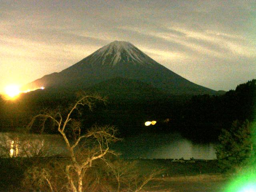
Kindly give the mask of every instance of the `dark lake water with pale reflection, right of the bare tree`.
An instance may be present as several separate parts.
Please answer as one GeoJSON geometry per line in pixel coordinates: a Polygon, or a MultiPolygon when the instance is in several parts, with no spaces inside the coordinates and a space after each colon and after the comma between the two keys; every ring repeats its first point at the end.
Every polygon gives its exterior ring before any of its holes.
{"type": "Polygon", "coordinates": [[[180,134],[140,134],[115,144],[124,158],[216,159],[214,144],[194,144],[180,134]]]}

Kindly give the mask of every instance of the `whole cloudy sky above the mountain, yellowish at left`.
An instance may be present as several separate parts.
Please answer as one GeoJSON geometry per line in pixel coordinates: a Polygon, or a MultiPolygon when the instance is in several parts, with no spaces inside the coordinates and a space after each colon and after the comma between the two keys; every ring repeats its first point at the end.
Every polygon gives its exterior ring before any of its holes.
{"type": "Polygon", "coordinates": [[[0,0],[0,92],[129,41],[214,90],[256,78],[256,0],[0,0]]]}

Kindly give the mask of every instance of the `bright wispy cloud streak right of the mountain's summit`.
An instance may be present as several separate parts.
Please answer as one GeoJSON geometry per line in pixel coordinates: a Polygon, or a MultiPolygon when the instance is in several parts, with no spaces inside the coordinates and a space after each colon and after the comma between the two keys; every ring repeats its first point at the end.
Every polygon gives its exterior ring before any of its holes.
{"type": "Polygon", "coordinates": [[[256,57],[256,48],[250,40],[234,34],[213,32],[211,30],[195,31],[178,27],[168,28],[170,32],[155,32],[148,29],[122,26],[123,30],[162,38],[169,42],[182,45],[190,52],[198,52],[207,56],[230,58],[232,56],[256,57]],[[198,40],[198,41],[196,41],[198,40]]]}

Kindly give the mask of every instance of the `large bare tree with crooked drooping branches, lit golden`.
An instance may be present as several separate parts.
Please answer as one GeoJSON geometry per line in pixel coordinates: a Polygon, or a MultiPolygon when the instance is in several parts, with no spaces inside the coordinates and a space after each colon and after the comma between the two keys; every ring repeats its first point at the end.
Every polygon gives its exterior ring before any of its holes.
{"type": "MultiPolygon", "coordinates": [[[[109,142],[118,140],[115,137],[115,128],[113,126],[93,126],[90,130],[84,132],[81,128],[81,122],[72,118],[72,115],[78,112],[80,107],[88,106],[91,110],[96,100],[104,101],[100,96],[82,96],[73,106],[70,107],[67,114],[62,112],[48,111],[34,116],[29,124],[31,128],[36,119],[43,120],[44,123],[50,119],[56,125],[58,132],[65,141],[70,161],[65,165],[65,174],[68,180],[69,190],[72,192],[83,191],[83,176],[92,166],[92,162],[103,158],[109,150],[109,142]],[[70,134],[71,133],[71,134],[70,134]],[[73,138],[70,138],[70,135],[73,138]]],[[[48,174],[42,174],[48,176],[48,174]]],[[[50,181],[50,180],[49,180],[50,181]]],[[[50,182],[50,189],[53,191],[50,182]]]]}

